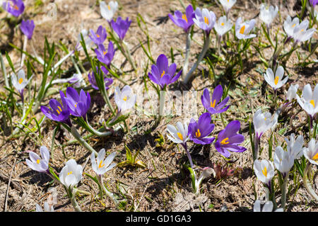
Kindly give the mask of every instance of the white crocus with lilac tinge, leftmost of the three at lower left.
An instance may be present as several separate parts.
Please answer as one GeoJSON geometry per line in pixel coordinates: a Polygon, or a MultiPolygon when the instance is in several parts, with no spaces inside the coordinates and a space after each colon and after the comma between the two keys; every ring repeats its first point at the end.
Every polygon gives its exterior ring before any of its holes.
{"type": "Polygon", "coordinates": [[[41,157],[35,152],[30,152],[30,159],[25,159],[26,164],[33,170],[40,173],[47,173],[49,171],[49,150],[47,147],[40,147],[41,157]]]}

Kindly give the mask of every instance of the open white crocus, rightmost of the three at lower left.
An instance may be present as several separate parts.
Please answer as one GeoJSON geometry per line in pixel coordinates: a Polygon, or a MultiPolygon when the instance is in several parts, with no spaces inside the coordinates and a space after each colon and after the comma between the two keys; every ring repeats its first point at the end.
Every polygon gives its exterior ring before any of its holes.
{"type": "Polygon", "coordinates": [[[112,160],[114,160],[115,156],[116,156],[116,152],[112,152],[112,154],[108,155],[107,158],[105,159],[105,149],[103,148],[103,149],[100,149],[100,152],[98,152],[98,157],[96,162],[95,154],[92,153],[90,155],[90,161],[92,162],[93,171],[95,171],[95,173],[98,175],[103,175],[107,171],[110,171],[110,169],[116,166],[116,163],[112,163],[112,160]]]}

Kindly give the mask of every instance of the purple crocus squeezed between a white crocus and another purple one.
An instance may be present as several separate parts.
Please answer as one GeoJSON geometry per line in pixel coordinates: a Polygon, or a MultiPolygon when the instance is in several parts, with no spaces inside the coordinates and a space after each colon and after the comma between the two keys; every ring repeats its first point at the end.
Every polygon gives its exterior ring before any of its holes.
{"type": "Polygon", "coordinates": [[[193,118],[190,120],[188,127],[188,136],[190,140],[200,145],[211,144],[215,137],[207,137],[214,129],[214,124],[211,123],[211,115],[206,112],[203,113],[198,122],[193,118]]]}

